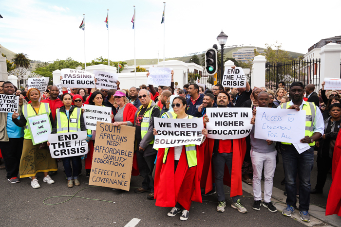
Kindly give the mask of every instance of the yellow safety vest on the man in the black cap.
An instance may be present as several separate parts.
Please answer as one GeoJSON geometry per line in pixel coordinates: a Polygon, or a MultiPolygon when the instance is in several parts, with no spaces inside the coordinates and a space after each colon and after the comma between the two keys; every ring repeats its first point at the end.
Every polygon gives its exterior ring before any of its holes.
{"type": "MultiPolygon", "coordinates": [[[[309,136],[311,137],[313,135],[313,130],[314,130],[314,119],[316,116],[316,105],[314,103],[310,102],[305,102],[306,105],[303,105],[302,110],[305,110],[305,135],[304,136],[309,136]],[[311,111],[311,110],[314,111],[311,111]]],[[[290,105],[288,103],[284,103],[281,105],[282,109],[288,109],[290,105]]],[[[291,144],[287,142],[282,142],[283,144],[291,144]]],[[[312,143],[309,143],[309,146],[314,146],[315,141],[312,143]]]]}

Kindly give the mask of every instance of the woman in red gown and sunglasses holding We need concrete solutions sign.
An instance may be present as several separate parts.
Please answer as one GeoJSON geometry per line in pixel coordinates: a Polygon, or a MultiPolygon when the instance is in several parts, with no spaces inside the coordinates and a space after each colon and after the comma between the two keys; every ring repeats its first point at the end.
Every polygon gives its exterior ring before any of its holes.
{"type": "MultiPolygon", "coordinates": [[[[171,106],[175,113],[172,118],[193,118],[186,114],[187,103],[184,97],[175,97],[171,106]]],[[[206,136],[207,129],[204,128],[202,134],[206,136]]],[[[155,128],[154,135],[157,135],[155,128]]],[[[204,152],[199,149],[199,146],[189,144],[159,148],[157,154],[154,183],[155,205],[173,207],[168,213],[170,217],[182,212],[180,217],[182,221],[189,218],[192,201],[202,203],[200,178],[204,152]]]]}

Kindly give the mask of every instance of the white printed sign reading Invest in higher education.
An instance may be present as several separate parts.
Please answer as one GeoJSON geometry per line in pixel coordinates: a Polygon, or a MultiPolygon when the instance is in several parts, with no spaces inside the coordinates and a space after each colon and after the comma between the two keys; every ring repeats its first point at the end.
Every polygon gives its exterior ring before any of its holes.
{"type": "Polygon", "coordinates": [[[251,108],[207,108],[208,138],[234,140],[248,136],[252,129],[251,108]]]}

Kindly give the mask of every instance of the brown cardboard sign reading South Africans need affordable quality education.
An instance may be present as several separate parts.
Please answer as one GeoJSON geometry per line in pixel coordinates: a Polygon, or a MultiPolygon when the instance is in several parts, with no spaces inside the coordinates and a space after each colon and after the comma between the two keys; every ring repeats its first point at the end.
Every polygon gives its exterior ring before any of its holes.
{"type": "Polygon", "coordinates": [[[135,127],[98,122],[89,185],[129,191],[135,127]]]}

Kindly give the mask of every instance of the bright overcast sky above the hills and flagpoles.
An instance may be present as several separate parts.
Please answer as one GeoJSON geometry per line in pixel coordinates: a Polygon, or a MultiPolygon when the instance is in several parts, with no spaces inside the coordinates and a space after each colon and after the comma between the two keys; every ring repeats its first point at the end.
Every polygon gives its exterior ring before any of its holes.
{"type": "MultiPolygon", "coordinates": [[[[163,58],[163,0],[1,0],[0,44],[53,61],[72,57],[84,62],[108,57],[134,58],[133,5],[136,6],[136,58],[163,58]]],[[[284,50],[306,53],[322,38],[341,35],[340,0],[166,0],[165,56],[202,52],[217,44],[221,30],[227,46],[265,47],[283,43],[284,50]]]]}

